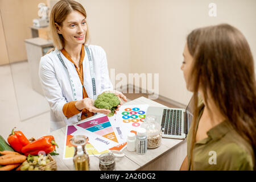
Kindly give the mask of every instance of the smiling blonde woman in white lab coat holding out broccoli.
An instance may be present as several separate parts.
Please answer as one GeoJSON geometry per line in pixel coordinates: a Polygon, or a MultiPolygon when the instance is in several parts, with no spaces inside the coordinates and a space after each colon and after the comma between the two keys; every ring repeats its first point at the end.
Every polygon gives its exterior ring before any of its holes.
{"type": "Polygon", "coordinates": [[[87,44],[86,12],[80,3],[58,1],[52,8],[49,28],[55,49],[41,58],[39,77],[51,107],[51,131],[94,113],[110,113],[93,106],[102,92],[113,92],[127,101],[113,90],[104,49],[87,44]]]}

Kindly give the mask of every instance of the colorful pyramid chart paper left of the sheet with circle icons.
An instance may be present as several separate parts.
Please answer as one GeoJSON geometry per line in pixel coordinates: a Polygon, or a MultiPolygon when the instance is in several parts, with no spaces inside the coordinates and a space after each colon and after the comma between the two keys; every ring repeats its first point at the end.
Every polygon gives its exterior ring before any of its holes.
{"type": "Polygon", "coordinates": [[[72,158],[74,155],[74,147],[69,143],[75,135],[86,135],[89,143],[86,144],[86,152],[88,155],[100,155],[109,150],[123,150],[126,147],[125,140],[119,139],[119,135],[115,134],[116,129],[112,127],[106,115],[99,115],[90,121],[81,122],[77,125],[68,125],[66,131],[64,159],[72,158]]]}

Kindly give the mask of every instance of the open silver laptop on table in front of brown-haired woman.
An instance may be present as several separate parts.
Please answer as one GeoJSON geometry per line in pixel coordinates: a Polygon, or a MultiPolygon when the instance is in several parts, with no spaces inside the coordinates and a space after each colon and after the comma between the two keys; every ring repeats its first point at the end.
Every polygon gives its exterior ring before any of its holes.
{"type": "Polygon", "coordinates": [[[147,115],[154,115],[162,127],[163,138],[185,139],[192,122],[192,98],[186,109],[149,106],[147,115]]]}

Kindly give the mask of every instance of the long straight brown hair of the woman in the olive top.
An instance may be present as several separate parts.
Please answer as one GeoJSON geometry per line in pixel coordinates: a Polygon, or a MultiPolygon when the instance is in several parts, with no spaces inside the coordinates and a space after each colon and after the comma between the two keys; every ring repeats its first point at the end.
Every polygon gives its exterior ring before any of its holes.
{"type": "Polygon", "coordinates": [[[193,57],[191,77],[195,99],[191,169],[199,114],[199,87],[205,105],[208,104],[207,97],[210,94],[226,121],[251,144],[255,154],[256,84],[253,56],[245,37],[237,28],[219,24],[193,30],[187,36],[187,45],[193,57]]]}

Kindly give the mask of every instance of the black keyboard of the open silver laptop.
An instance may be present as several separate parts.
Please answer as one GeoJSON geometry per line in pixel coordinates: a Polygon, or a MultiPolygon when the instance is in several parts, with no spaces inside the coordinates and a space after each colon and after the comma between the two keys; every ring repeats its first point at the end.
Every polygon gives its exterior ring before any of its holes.
{"type": "Polygon", "coordinates": [[[164,109],[162,131],[165,135],[181,135],[181,110],[164,109]]]}

